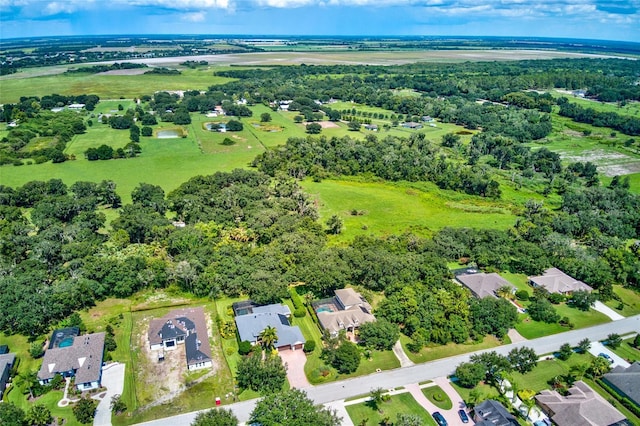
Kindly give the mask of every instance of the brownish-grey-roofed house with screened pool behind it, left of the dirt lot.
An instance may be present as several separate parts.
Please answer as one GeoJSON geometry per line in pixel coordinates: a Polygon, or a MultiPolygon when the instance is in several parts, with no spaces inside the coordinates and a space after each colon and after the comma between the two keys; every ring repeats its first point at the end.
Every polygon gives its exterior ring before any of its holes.
{"type": "Polygon", "coordinates": [[[79,391],[97,389],[102,379],[104,333],[79,335],[77,328],[58,329],[53,332],[49,348],[44,353],[38,381],[45,385],[56,374],[75,377],[79,391]]]}

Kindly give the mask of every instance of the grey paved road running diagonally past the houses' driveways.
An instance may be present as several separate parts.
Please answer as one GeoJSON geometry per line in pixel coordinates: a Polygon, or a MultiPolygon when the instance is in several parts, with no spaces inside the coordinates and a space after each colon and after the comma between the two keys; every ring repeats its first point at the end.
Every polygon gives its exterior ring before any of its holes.
{"type": "MultiPolygon", "coordinates": [[[[625,318],[619,321],[596,325],[594,327],[572,330],[565,333],[532,339],[525,342],[512,343],[480,352],[496,351],[506,355],[510,350],[523,346],[532,347],[538,354],[552,353],[563,344],[569,343],[577,346],[580,340],[588,338],[592,342],[606,339],[607,335],[617,333],[625,335],[637,333],[640,330],[640,315],[625,318]]],[[[368,376],[356,377],[340,382],[327,383],[305,389],[309,397],[316,404],[325,404],[332,401],[350,398],[356,395],[368,394],[372,388],[393,389],[411,383],[433,380],[436,377],[453,373],[456,366],[466,362],[472,354],[458,355],[450,358],[439,359],[411,367],[397,368],[395,370],[373,373],[368,376]]],[[[246,422],[255,406],[256,400],[243,401],[226,406],[233,410],[241,422],[246,422]]],[[[195,417],[195,413],[187,413],[179,416],[146,422],[147,426],[178,426],[189,425],[195,417]]]]}

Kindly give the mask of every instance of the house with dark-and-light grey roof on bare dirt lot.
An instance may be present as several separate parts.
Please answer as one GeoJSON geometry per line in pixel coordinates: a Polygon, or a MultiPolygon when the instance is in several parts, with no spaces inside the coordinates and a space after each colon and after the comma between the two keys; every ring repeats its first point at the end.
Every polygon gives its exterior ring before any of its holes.
{"type": "Polygon", "coordinates": [[[202,308],[175,309],[149,323],[151,350],[174,350],[184,345],[189,371],[211,367],[211,346],[202,308]]]}

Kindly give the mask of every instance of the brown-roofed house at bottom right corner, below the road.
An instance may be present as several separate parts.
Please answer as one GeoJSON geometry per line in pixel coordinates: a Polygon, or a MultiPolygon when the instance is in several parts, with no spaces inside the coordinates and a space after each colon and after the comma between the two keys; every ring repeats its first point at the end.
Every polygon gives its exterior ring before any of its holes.
{"type": "Polygon", "coordinates": [[[567,396],[545,389],[536,401],[558,426],[627,425],[625,416],[582,380],[573,384],[567,396]]]}

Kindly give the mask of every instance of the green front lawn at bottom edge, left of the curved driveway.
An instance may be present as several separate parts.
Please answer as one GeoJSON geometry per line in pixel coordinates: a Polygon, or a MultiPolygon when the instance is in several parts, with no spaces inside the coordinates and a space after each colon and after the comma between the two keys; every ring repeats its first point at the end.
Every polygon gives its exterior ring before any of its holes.
{"type": "Polygon", "coordinates": [[[377,425],[385,418],[395,422],[398,414],[415,414],[422,419],[424,425],[436,425],[431,414],[422,408],[408,392],[393,395],[388,402],[383,402],[380,405],[382,413],[376,410],[369,401],[347,405],[345,408],[351,421],[356,425],[362,424],[365,419],[370,425],[377,425]]]}

